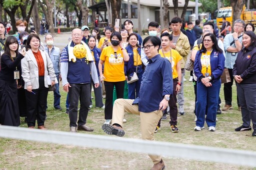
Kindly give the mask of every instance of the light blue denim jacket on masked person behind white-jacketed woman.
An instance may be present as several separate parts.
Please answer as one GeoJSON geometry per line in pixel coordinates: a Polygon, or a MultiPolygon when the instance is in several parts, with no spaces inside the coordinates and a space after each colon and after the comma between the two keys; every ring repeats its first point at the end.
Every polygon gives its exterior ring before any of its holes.
{"type": "Polygon", "coordinates": [[[46,45],[45,51],[48,53],[48,55],[50,57],[55,75],[58,76],[60,74],[60,67],[59,67],[60,50],[59,50],[59,48],[52,46],[52,49],[49,53],[48,47],[46,45]]]}

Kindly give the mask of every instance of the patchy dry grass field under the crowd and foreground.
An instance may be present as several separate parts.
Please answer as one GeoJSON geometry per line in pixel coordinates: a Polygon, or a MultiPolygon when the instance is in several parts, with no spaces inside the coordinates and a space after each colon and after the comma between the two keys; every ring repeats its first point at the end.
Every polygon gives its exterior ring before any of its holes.
{"type": "MultiPolygon", "coordinates": [[[[237,110],[236,90],[233,86],[233,109],[217,115],[218,122],[215,132],[208,132],[207,128],[200,132],[193,131],[194,122],[194,94],[191,82],[188,82],[189,73],[186,72],[187,81],[184,83],[185,112],[178,115],[179,133],[171,133],[169,129],[169,116],[162,121],[161,130],[155,134],[157,141],[192,144],[199,146],[220,147],[236,150],[256,151],[255,140],[251,137],[252,131],[235,132],[241,125],[241,114],[237,110]]],[[[61,107],[63,111],[53,108],[53,94],[48,95],[47,120],[45,127],[48,130],[69,131],[69,119],[65,114],[66,93],[61,91],[61,107]]],[[[220,90],[224,105],[223,87],[220,90]]],[[[94,100],[93,100],[94,104],[94,100]]],[[[140,139],[139,117],[125,114],[127,123],[124,124],[124,138],[140,139]]],[[[94,128],[94,132],[78,133],[105,135],[101,130],[104,123],[103,109],[93,107],[88,114],[87,125],[94,128]]],[[[205,124],[206,126],[206,124],[205,124]]],[[[21,127],[27,127],[21,118],[21,127]]],[[[113,140],[117,138],[113,136],[113,140]]],[[[175,155],[173,155],[175,157],[175,155]]],[[[210,162],[182,160],[163,157],[165,170],[256,170],[255,168],[234,166],[229,164],[216,164],[210,162]]],[[[0,138],[0,170],[149,170],[152,162],[146,154],[134,154],[94,148],[81,148],[73,146],[28,142],[0,138]]]]}

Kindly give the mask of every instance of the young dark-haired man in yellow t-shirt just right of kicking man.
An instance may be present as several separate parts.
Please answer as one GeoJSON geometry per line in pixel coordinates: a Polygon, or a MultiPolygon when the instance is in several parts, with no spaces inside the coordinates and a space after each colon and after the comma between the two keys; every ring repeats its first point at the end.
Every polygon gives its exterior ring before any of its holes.
{"type": "MultiPolygon", "coordinates": [[[[176,95],[181,88],[182,76],[181,76],[180,60],[182,59],[182,57],[176,50],[170,48],[170,44],[172,43],[171,34],[164,32],[161,34],[160,37],[161,37],[162,48],[159,50],[158,53],[161,55],[161,57],[168,59],[171,63],[172,78],[173,78],[173,92],[170,97],[170,100],[168,101],[168,104],[170,107],[169,123],[170,123],[171,132],[175,133],[175,132],[178,132],[178,128],[177,128],[178,110],[177,110],[177,104],[176,104],[177,103],[176,95]]],[[[166,110],[164,111],[164,115],[162,117],[162,120],[165,120],[165,119],[166,119],[166,110]]],[[[161,123],[161,120],[159,120],[158,125],[155,129],[156,132],[160,128],[160,123],[161,123]]]]}

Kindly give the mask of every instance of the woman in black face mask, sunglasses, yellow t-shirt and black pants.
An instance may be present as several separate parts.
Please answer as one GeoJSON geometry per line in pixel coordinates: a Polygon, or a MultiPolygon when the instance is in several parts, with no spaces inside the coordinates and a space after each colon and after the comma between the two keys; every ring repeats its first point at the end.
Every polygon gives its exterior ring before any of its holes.
{"type": "Polygon", "coordinates": [[[125,49],[122,48],[121,35],[119,32],[113,32],[110,35],[111,45],[103,48],[99,63],[98,71],[100,75],[100,80],[105,85],[105,123],[110,124],[112,119],[112,109],[113,109],[113,88],[116,88],[116,96],[118,98],[123,98],[124,90],[124,61],[129,60],[129,56],[125,49]],[[102,74],[102,65],[104,63],[104,73],[102,74]]]}

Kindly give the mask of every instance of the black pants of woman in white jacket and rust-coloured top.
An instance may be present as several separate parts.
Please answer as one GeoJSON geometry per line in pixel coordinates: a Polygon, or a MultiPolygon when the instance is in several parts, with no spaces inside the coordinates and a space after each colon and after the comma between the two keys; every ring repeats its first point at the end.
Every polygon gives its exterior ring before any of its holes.
{"type": "Polygon", "coordinates": [[[44,125],[48,88],[44,87],[44,76],[38,79],[39,88],[32,90],[35,94],[25,90],[27,108],[26,121],[28,127],[35,126],[35,119],[37,120],[38,126],[44,125]]]}

